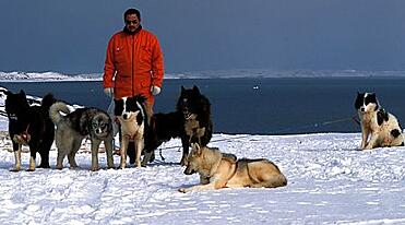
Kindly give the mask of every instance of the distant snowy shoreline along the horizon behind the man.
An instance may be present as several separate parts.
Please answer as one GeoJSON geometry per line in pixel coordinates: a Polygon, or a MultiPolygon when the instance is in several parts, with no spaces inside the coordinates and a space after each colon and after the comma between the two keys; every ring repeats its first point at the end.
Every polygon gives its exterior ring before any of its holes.
{"type": "MultiPolygon", "coordinates": [[[[356,70],[217,70],[167,73],[165,80],[205,79],[405,79],[405,71],[356,70]]],[[[0,82],[80,82],[103,81],[103,73],[62,74],[59,72],[0,72],[0,82]]]]}

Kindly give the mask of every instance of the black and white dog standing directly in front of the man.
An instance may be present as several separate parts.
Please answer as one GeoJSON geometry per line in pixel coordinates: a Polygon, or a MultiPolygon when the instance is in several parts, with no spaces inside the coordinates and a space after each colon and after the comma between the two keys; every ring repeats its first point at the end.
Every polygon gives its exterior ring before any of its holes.
{"type": "Polygon", "coordinates": [[[122,97],[114,99],[114,114],[121,125],[121,162],[120,168],[127,166],[127,150],[130,141],[133,141],[135,149],[135,164],[141,167],[141,153],[144,147],[144,139],[151,112],[146,107],[146,98],[142,95],[134,97],[122,97]]]}

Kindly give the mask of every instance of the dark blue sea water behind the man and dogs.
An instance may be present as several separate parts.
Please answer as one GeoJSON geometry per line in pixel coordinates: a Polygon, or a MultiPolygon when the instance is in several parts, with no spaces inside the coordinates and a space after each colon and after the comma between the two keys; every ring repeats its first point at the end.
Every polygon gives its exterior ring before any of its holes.
{"type": "MultiPolygon", "coordinates": [[[[102,82],[2,83],[10,91],[47,93],[68,103],[107,109],[102,82]]],[[[357,92],[376,92],[380,104],[405,121],[405,78],[168,79],[155,112],[175,110],[181,85],[196,85],[211,102],[214,132],[285,134],[360,132],[357,92]]]]}

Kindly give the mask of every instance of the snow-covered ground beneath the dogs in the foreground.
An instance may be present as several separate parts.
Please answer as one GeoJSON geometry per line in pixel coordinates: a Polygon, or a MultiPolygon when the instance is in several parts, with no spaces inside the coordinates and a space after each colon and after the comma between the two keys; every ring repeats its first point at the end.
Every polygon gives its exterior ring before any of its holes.
{"type": "MultiPolygon", "coordinates": [[[[7,129],[0,116],[0,224],[405,224],[405,147],[358,151],[360,133],[216,133],[211,146],[238,157],[266,157],[288,185],[180,193],[199,177],[177,164],[179,140],[162,146],[165,162],[157,152],[146,168],[90,171],[85,142],[76,157],[80,169],[69,169],[67,162],[55,169],[52,146],[51,169],[12,173],[7,129]]],[[[105,167],[105,154],[99,157],[105,167]]],[[[23,153],[23,168],[28,158],[23,153]]]]}

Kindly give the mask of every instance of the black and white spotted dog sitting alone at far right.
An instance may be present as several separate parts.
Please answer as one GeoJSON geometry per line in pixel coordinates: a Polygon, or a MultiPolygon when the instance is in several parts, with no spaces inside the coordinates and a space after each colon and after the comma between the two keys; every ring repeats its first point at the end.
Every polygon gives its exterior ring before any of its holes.
{"type": "Polygon", "coordinates": [[[357,93],[355,107],[361,122],[361,150],[404,145],[397,119],[381,108],[374,93],[357,93]]]}

